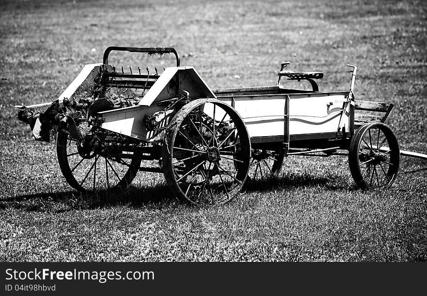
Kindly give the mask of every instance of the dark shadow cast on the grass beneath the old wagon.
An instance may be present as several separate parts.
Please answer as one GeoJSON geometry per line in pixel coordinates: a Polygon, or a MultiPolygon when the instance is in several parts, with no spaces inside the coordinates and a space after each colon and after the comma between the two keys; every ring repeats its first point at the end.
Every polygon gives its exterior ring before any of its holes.
{"type": "MultiPolygon", "coordinates": [[[[263,192],[270,190],[289,190],[297,187],[321,186],[327,190],[339,190],[347,187],[340,178],[330,179],[311,174],[290,174],[264,180],[248,180],[244,192],[263,192]]],[[[41,211],[61,213],[70,210],[100,209],[116,206],[130,206],[132,208],[174,208],[188,206],[178,202],[169,187],[162,183],[153,187],[129,186],[124,192],[77,192],[74,190],[63,192],[44,192],[23,194],[0,200],[0,209],[14,208],[26,211],[41,211]]]]}

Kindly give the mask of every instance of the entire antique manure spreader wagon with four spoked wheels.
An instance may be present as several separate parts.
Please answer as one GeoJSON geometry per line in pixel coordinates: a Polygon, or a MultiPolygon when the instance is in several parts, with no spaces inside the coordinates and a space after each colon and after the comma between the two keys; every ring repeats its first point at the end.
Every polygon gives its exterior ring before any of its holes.
{"type": "Polygon", "coordinates": [[[56,138],[61,171],[82,192],[123,190],[145,171],[163,173],[181,200],[224,203],[292,155],[348,155],[359,187],[392,185],[399,145],[384,121],[393,104],[355,101],[355,66],[349,90],[324,92],[323,73],[288,65],[275,86],[211,89],[173,48],[109,47],[53,103],[16,107],[36,140],[56,138]],[[176,67],[118,70],[113,51],[172,53],[176,67]],[[283,77],[312,90],[283,87],[283,77]]]}

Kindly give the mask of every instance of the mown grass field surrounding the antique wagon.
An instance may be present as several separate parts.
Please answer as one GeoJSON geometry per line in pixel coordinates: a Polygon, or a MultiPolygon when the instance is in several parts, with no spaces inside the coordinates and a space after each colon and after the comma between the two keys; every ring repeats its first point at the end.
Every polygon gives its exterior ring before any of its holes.
{"type": "Polygon", "coordinates": [[[274,85],[289,61],[347,90],[349,63],[356,98],[392,102],[400,148],[426,154],[426,1],[0,0],[0,17],[0,261],[427,260],[426,161],[402,157],[393,188],[363,192],[345,157],[289,157],[206,209],[151,173],[81,195],[13,108],[54,100],[111,45],[176,47],[212,88],[274,85]]]}

